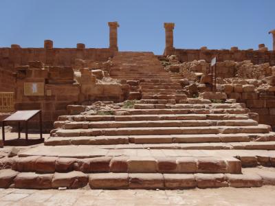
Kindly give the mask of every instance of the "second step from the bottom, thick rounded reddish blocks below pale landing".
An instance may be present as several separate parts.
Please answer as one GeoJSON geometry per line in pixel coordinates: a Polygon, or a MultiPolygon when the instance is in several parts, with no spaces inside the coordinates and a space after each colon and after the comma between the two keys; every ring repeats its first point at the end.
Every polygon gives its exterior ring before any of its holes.
{"type": "Polygon", "coordinates": [[[12,162],[18,172],[128,172],[128,173],[230,173],[241,174],[241,161],[234,157],[118,156],[63,158],[30,156],[12,162]]]}

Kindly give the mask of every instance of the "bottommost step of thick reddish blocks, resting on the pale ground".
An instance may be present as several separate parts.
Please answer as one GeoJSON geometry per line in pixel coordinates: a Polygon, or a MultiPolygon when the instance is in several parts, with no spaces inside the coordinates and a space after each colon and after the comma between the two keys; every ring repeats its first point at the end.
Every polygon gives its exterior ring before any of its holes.
{"type": "MultiPolygon", "coordinates": [[[[274,172],[275,176],[275,172],[274,172]]],[[[217,187],[261,187],[274,183],[266,176],[246,172],[245,174],[161,174],[161,173],[93,173],[83,172],[37,174],[0,170],[0,187],[20,189],[77,189],[89,185],[91,189],[187,189],[217,187]]],[[[87,188],[87,187],[86,187],[87,188]]]]}

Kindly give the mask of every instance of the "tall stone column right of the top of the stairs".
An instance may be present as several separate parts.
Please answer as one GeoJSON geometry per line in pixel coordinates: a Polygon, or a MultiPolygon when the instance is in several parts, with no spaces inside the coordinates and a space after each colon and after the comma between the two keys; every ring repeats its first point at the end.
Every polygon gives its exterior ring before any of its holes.
{"type": "Polygon", "coordinates": [[[173,30],[175,23],[164,23],[165,28],[165,52],[164,55],[169,55],[173,52],[174,48],[174,34],[173,30]]]}

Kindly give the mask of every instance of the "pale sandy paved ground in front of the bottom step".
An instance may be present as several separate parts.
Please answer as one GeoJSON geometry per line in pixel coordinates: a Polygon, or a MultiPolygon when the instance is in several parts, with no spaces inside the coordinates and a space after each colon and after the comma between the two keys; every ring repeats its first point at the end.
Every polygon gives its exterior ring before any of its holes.
{"type": "Polygon", "coordinates": [[[275,205],[275,186],[194,190],[0,189],[0,205],[275,205]]]}

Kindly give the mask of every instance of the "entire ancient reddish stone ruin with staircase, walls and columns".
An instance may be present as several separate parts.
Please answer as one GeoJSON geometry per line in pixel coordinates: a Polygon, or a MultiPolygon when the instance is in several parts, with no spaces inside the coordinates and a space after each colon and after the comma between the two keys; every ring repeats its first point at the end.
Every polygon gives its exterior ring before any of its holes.
{"type": "Polygon", "coordinates": [[[164,23],[163,55],[119,52],[118,27],[109,48],[0,48],[0,92],[14,111],[41,110],[50,133],[0,159],[0,187],[274,185],[247,168],[275,166],[275,46],[177,49],[164,23]]]}

